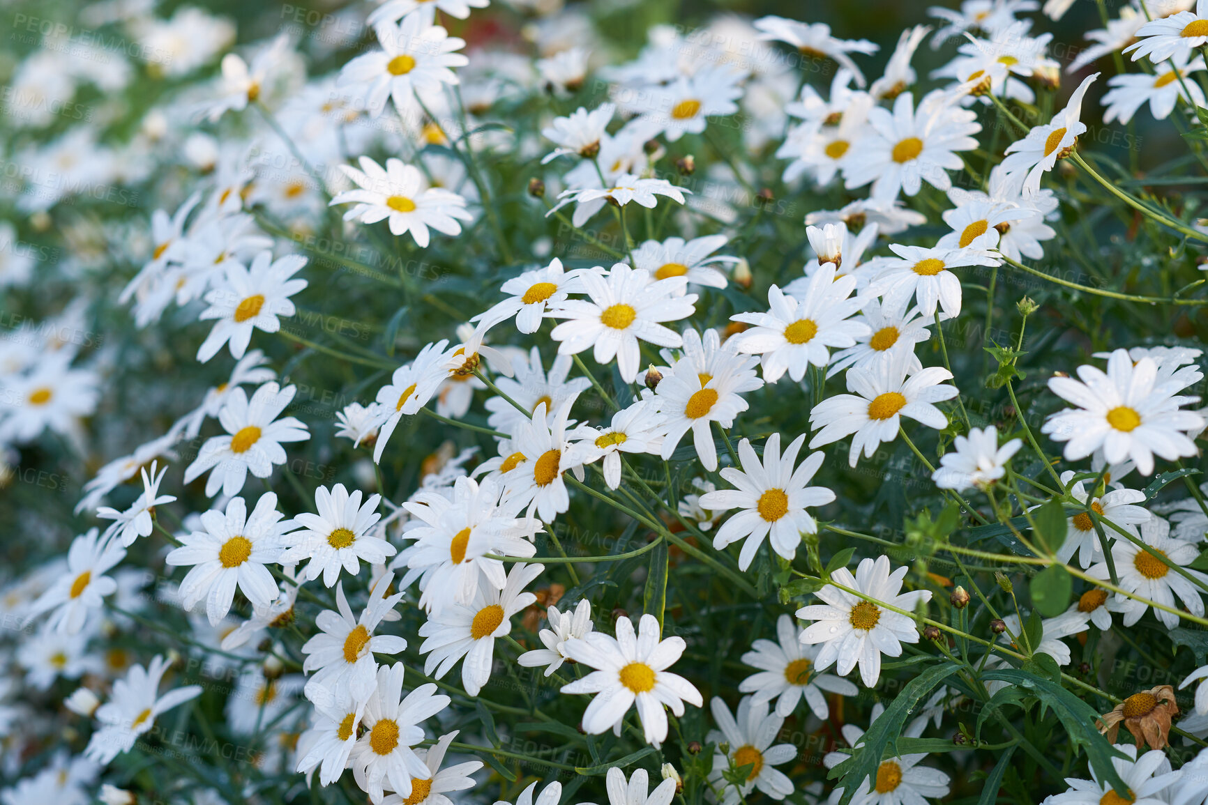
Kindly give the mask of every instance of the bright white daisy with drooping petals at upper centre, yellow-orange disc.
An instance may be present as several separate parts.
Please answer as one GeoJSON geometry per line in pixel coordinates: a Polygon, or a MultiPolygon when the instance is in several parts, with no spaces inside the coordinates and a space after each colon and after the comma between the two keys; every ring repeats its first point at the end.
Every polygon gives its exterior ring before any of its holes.
{"type": "Polygon", "coordinates": [[[580,275],[590,299],[567,299],[550,315],[565,319],[550,333],[561,342],[559,355],[576,355],[588,346],[600,366],[616,358],[621,379],[638,377],[638,339],[658,346],[681,346],[683,339],[663,327],[664,321],[691,316],[697,296],[676,296],[687,285],[684,276],[650,281],[650,274],[616,263],[608,275],[586,272],[580,275]]]}

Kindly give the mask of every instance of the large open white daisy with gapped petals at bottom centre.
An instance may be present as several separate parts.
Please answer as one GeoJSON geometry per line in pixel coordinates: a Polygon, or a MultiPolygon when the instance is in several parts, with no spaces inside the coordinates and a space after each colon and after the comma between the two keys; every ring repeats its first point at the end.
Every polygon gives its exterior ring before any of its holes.
{"type": "Polygon", "coordinates": [[[620,733],[629,707],[638,706],[646,742],[656,747],[667,740],[667,713],[684,714],[684,702],[702,706],[701,692],[667,669],[684,653],[683,637],[660,640],[658,620],[641,616],[639,634],[627,617],[616,619],[616,637],[593,631],[563,643],[568,659],[598,669],[563,686],[563,693],[594,693],[583,712],[583,730],[592,735],[611,729],[620,733]]]}

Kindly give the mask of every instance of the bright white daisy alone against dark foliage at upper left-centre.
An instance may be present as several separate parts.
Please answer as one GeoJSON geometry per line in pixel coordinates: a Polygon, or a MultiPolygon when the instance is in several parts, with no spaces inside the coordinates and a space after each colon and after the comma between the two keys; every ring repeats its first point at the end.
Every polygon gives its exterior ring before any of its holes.
{"type": "Polygon", "coordinates": [[[385,161],[385,169],[368,157],[360,158],[361,169],[339,165],[345,176],[356,182],[356,189],[337,193],[331,204],[353,203],[344,212],[345,221],[377,223],[383,218],[390,234],[411,233],[416,244],[428,246],[428,229],[447,235],[461,233],[458,221],[474,216],[465,209],[465,199],[443,187],[429,187],[419,168],[403,164],[394,157],[385,161]]]}

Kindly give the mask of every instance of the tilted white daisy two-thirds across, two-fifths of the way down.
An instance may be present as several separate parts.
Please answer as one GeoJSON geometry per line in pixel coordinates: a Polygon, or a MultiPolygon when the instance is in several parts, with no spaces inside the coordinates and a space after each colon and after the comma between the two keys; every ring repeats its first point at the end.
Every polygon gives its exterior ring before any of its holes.
{"type": "Polygon", "coordinates": [[[855,276],[835,276],[835,263],[824,263],[809,278],[798,297],[786,296],[776,285],[767,291],[767,313],[739,313],[732,321],[753,325],[732,337],[734,349],[759,355],[763,381],[776,383],[785,372],[801,383],[811,366],[825,367],[830,349],[855,345],[872,331],[852,315],[864,307],[863,297],[852,296],[855,276]]]}

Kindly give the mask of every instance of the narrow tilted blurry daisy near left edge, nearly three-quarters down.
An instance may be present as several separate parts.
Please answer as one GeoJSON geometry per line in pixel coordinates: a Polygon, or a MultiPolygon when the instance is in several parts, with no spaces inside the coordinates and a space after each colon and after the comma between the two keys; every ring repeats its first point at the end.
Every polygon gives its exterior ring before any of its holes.
{"type": "Polygon", "coordinates": [[[25,624],[50,612],[47,631],[79,634],[88,616],[104,605],[105,596],[117,590],[117,582],[105,573],[124,558],[126,548],[98,536],[97,529],[77,536],[68,549],[66,567],[29,606],[25,624]]]}

